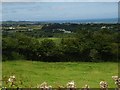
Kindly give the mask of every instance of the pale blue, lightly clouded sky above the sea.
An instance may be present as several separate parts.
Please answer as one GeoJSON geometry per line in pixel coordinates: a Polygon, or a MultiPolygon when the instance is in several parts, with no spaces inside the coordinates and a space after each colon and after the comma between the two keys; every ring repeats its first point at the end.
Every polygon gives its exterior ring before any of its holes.
{"type": "Polygon", "coordinates": [[[3,2],[3,21],[47,21],[118,17],[117,2],[3,2]]]}

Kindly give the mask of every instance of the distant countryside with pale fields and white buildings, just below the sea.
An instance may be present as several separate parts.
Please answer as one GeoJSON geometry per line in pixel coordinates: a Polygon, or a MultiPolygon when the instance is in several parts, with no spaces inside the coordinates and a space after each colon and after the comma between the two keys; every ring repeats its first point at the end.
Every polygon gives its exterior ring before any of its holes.
{"type": "Polygon", "coordinates": [[[75,30],[120,30],[117,24],[76,24],[76,23],[26,23],[21,24],[21,22],[8,24],[7,22],[2,24],[3,33],[15,33],[15,32],[50,32],[50,33],[64,33],[72,34],[75,30]]]}

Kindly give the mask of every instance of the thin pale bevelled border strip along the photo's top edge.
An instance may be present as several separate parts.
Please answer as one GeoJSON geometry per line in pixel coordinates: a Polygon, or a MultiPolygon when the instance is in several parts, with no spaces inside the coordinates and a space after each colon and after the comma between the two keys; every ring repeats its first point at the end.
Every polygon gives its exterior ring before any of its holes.
{"type": "Polygon", "coordinates": [[[119,0],[1,0],[2,2],[119,2],[119,0]]]}

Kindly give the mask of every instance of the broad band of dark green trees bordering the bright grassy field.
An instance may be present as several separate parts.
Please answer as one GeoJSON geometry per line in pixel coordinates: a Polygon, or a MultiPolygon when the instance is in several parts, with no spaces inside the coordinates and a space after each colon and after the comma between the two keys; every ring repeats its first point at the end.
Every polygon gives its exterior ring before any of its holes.
{"type": "Polygon", "coordinates": [[[61,38],[61,43],[36,38],[22,33],[3,36],[3,60],[64,61],[118,61],[120,32],[113,30],[76,30],[73,38],[61,38]]]}

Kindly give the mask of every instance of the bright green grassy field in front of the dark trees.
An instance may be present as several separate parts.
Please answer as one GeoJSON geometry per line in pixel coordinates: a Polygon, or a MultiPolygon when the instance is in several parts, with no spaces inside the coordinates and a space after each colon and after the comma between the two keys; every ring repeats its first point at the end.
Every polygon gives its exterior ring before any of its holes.
{"type": "Polygon", "coordinates": [[[91,88],[99,88],[99,82],[105,80],[109,88],[115,88],[111,76],[118,74],[118,65],[113,62],[37,62],[37,61],[5,61],[2,63],[3,78],[14,74],[22,80],[22,87],[35,87],[46,81],[53,87],[66,85],[74,80],[78,88],[88,84],[91,88]]]}

